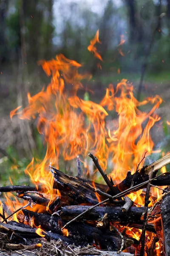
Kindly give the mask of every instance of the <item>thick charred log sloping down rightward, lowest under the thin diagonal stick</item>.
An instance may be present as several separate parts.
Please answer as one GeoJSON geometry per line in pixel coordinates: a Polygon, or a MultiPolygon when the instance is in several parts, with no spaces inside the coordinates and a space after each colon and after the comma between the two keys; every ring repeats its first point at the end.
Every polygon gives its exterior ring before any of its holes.
{"type": "MultiPolygon", "coordinates": [[[[62,227],[66,224],[57,216],[51,216],[47,214],[39,214],[37,212],[31,212],[23,210],[17,215],[19,222],[24,224],[33,224],[33,226],[40,226],[45,231],[52,231],[62,235],[62,227]]],[[[122,239],[116,232],[106,230],[100,230],[90,225],[76,222],[73,225],[68,226],[67,229],[68,238],[72,238],[75,242],[88,242],[99,246],[101,249],[110,249],[118,251],[121,248],[122,239]],[[107,242],[106,242],[107,241],[107,242]]],[[[125,247],[129,247],[131,244],[138,244],[136,239],[124,237],[125,247]]]]}

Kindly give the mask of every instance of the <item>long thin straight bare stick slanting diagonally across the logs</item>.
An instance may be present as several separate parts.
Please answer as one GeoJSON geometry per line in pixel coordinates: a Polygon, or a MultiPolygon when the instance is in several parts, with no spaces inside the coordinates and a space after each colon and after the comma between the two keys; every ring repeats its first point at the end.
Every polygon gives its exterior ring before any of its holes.
{"type": "MultiPolygon", "coordinates": [[[[112,197],[112,199],[116,199],[116,198],[119,198],[120,196],[122,197],[123,195],[127,195],[128,192],[133,191],[134,189],[137,189],[137,188],[139,188],[139,187],[141,187],[141,186],[144,186],[145,184],[149,183],[149,182],[152,181],[152,180],[156,180],[156,178],[158,178],[158,177],[161,176],[161,175],[164,175],[164,173],[161,173],[160,175],[158,175],[157,177],[155,177],[155,178],[153,178],[153,179],[151,179],[151,180],[146,180],[146,181],[142,182],[142,183],[139,184],[139,185],[133,186],[133,187],[131,187],[131,188],[129,188],[129,189],[126,189],[126,190],[123,191],[123,192],[120,192],[119,194],[114,195],[114,196],[112,197]]],[[[85,210],[84,212],[80,213],[78,216],[76,216],[75,218],[73,218],[71,221],[68,221],[68,222],[64,225],[64,227],[62,227],[62,230],[63,230],[66,226],[68,226],[69,224],[71,224],[72,222],[76,221],[78,218],[82,217],[82,215],[84,215],[84,214],[86,214],[87,212],[91,211],[92,209],[96,208],[96,207],[99,206],[100,204],[104,204],[105,202],[108,202],[109,200],[110,200],[109,198],[108,198],[108,199],[105,199],[104,201],[99,202],[98,204],[95,204],[95,205],[92,206],[91,208],[89,208],[89,209],[85,210]]]]}

